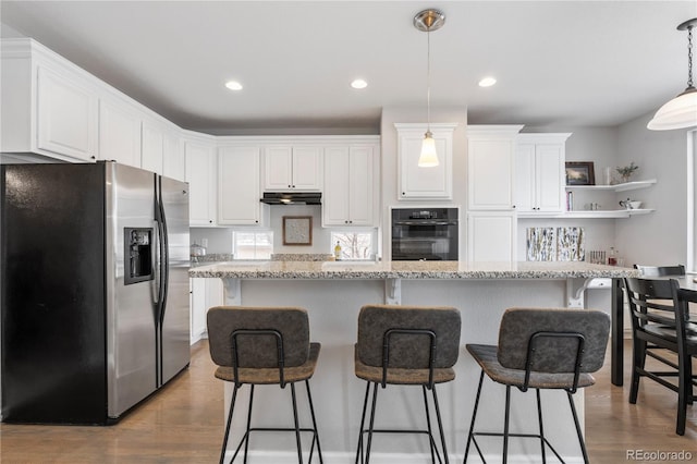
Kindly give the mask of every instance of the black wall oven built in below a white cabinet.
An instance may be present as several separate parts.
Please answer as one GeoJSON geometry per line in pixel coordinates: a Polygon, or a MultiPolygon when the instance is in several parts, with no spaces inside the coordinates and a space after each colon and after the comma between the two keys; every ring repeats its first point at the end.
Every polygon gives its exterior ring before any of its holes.
{"type": "Polygon", "coordinates": [[[392,209],[392,260],[457,260],[457,208],[392,209]]]}

